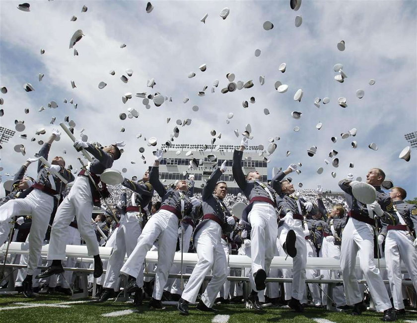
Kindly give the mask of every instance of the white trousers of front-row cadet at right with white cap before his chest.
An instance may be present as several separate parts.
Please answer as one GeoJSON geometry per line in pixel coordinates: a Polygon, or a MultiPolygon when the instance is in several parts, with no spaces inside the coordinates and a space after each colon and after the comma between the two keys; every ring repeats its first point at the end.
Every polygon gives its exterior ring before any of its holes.
{"type": "Polygon", "coordinates": [[[340,265],[345,285],[346,301],[354,305],[362,301],[355,275],[356,254],[359,251],[360,268],[368,285],[376,310],[392,307],[379,269],[374,261],[374,229],[371,225],[349,218],[343,231],[340,265]]]}

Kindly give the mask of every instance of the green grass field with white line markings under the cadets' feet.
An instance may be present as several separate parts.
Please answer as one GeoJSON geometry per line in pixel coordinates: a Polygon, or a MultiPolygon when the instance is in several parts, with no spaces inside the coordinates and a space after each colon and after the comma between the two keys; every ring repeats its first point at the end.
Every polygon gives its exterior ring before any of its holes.
{"type": "MultiPolygon", "coordinates": [[[[325,310],[307,308],[303,314],[279,308],[267,308],[264,314],[247,310],[244,305],[217,305],[219,310],[216,315],[229,315],[229,323],[257,323],[257,322],[315,322],[313,319],[326,319],[336,323],[368,323],[381,322],[380,313],[366,312],[360,317],[352,317],[346,313],[333,313],[325,310]]],[[[414,309],[415,310],[415,309],[414,309]]],[[[180,316],[176,307],[168,306],[166,310],[149,310],[147,302],[135,308],[132,304],[107,301],[102,304],[71,300],[64,296],[38,296],[34,299],[24,298],[22,295],[0,296],[0,322],[2,323],[65,323],[65,322],[181,322],[181,323],[211,323],[215,315],[206,314],[194,310],[191,307],[190,315],[180,316]],[[71,304],[65,304],[71,302],[71,304]],[[103,317],[102,315],[124,310],[137,310],[138,312],[118,317],[103,317]]],[[[406,317],[401,317],[397,322],[415,321],[417,312],[408,312],[406,317]]],[[[326,321],[323,321],[326,322],[326,321]]]]}

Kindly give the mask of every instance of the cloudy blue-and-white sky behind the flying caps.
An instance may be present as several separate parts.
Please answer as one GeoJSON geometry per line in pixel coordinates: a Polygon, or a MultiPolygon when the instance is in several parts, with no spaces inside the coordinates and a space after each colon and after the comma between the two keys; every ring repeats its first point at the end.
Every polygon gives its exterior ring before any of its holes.
{"type": "MultiPolygon", "coordinates": [[[[89,142],[125,142],[125,152],[114,168],[127,168],[126,177],[140,177],[153,162],[155,149],[147,139],[157,138],[159,146],[170,140],[176,120],[189,118],[191,125],[179,127],[173,143],[209,144],[214,129],[222,134],[216,144],[238,145],[240,138],[233,130],[242,132],[248,123],[253,135],[250,145],[267,148],[269,138],[278,136],[277,149],[268,156],[269,177],[273,166],[300,162],[301,173],[292,175],[295,185],[315,189],[321,184],[340,191],[338,181],[346,174],[364,179],[369,168],[379,167],[394,185],[408,191],[408,198],[417,196],[417,151],[412,149],[409,162],[398,158],[409,145],[404,135],[417,131],[416,0],[313,0],[303,1],[298,11],[290,8],[288,0],[152,1],[150,13],[145,10],[146,1],[135,0],[29,1],[30,12],[19,10],[19,3],[0,1],[0,86],[7,88],[7,93],[0,93],[4,100],[0,126],[14,130],[15,120],[26,126],[1,144],[2,182],[39,151],[37,142],[46,141],[66,116],[75,122],[77,138],[84,129],[89,142]],[[83,5],[86,12],[81,12],[83,5]],[[219,13],[225,7],[230,13],[223,20],[219,13]],[[71,21],[73,15],[75,21],[71,21]],[[302,16],[299,27],[294,25],[297,15],[302,16]],[[263,28],[267,20],[273,29],[263,28]],[[71,36],[78,29],[84,36],[70,49],[71,36]],[[337,47],[342,40],[344,51],[337,47]],[[126,47],[121,48],[122,44],[126,47]],[[286,63],[284,73],[278,71],[282,63],[286,63]],[[347,75],[343,83],[334,79],[337,63],[347,75]],[[202,64],[207,65],[205,72],[199,70],[202,64]],[[120,77],[127,76],[127,69],[133,75],[124,83],[120,77]],[[196,76],[190,79],[192,72],[196,76]],[[39,73],[45,75],[42,81],[39,73]],[[228,84],[228,73],[235,74],[235,82],[253,80],[254,86],[223,94],[220,90],[228,84]],[[264,85],[260,76],[265,77],[264,85]],[[147,87],[151,78],[156,82],[153,88],[147,87]],[[374,85],[369,85],[371,79],[374,85]],[[215,80],[219,85],[211,93],[215,80]],[[98,88],[101,81],[107,83],[103,89],[98,88]],[[279,93],[276,81],[287,84],[287,92],[279,93]],[[26,82],[35,90],[26,92],[26,82]],[[205,95],[199,96],[205,86],[205,95]],[[298,89],[303,91],[300,102],[293,99],[298,89]],[[356,97],[357,89],[364,90],[363,98],[356,97]],[[122,96],[128,92],[133,97],[123,103],[122,96]],[[172,97],[172,102],[156,107],[151,101],[147,109],[142,98],[135,96],[140,92],[159,92],[172,97]],[[242,102],[252,96],[255,103],[244,108],[242,102]],[[330,102],[316,107],[316,97],[329,97],[330,102]],[[347,107],[338,104],[339,97],[347,99],[347,107]],[[76,109],[64,103],[71,98],[76,109]],[[188,102],[183,103],[184,98],[188,102]],[[59,105],[55,109],[48,108],[52,100],[59,105]],[[194,105],[199,107],[197,112],[194,105]],[[45,109],[39,112],[41,106],[45,109]],[[120,113],[129,113],[128,108],[135,108],[139,117],[120,120],[120,113]],[[269,115],[264,114],[265,108],[269,115]],[[301,112],[301,118],[294,119],[292,111],[301,112]],[[227,124],[230,112],[233,118],[227,124]],[[51,124],[53,117],[56,121],[51,124]],[[323,126],[317,130],[319,122],[323,126]],[[294,132],[294,127],[300,130],[294,132]],[[46,134],[36,135],[39,128],[45,128],[46,134]],[[356,136],[342,139],[341,134],[352,128],[357,129],[356,136]],[[28,139],[20,138],[21,134],[28,139]],[[31,142],[32,137],[36,141],[31,142]],[[356,149],[351,147],[353,140],[356,149]],[[368,148],[371,143],[377,151],[368,148]],[[13,150],[17,144],[25,146],[25,156],[13,150]],[[312,146],[317,153],[309,157],[307,150],[312,146]],[[146,164],[140,147],[145,148],[146,164]],[[339,167],[332,165],[332,150],[339,153],[339,167]],[[291,152],[288,157],[287,151],[291,152]],[[322,174],[316,172],[319,167],[324,168],[322,174]]],[[[79,154],[65,134],[52,145],[50,158],[54,156],[63,156],[67,165],[79,169],[79,154]]],[[[35,175],[35,168],[30,166],[28,174],[35,175]]]]}

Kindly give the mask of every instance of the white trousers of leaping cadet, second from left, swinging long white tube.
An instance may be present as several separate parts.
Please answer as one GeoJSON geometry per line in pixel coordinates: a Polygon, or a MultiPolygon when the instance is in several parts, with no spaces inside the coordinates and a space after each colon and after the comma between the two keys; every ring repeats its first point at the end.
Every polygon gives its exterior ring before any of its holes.
{"type": "MultiPolygon", "coordinates": [[[[48,260],[65,259],[65,236],[67,227],[74,218],[77,220],[78,231],[87,245],[88,254],[99,254],[97,237],[91,225],[93,202],[88,177],[78,176],[71,187],[70,193],[62,201],[55,215],[51,230],[48,249],[48,260]]],[[[32,230],[32,229],[31,229],[32,230]]]]}

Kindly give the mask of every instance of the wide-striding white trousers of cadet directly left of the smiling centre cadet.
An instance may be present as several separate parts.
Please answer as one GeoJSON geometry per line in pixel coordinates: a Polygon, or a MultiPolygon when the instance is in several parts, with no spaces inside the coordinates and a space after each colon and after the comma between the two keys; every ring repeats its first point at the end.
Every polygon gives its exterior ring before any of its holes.
{"type": "Polygon", "coordinates": [[[158,239],[158,265],[156,268],[155,288],[152,297],[162,298],[162,292],[168,280],[169,269],[174,261],[178,239],[178,218],[167,210],[159,210],[152,215],[139,236],[138,244],[120,270],[121,273],[138,277],[143,268],[146,252],[158,239]]]}

